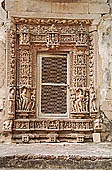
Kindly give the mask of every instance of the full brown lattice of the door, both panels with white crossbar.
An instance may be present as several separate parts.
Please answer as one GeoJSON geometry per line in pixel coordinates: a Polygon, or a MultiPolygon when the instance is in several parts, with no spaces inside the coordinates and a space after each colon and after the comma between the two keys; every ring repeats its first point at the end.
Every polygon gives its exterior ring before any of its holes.
{"type": "Polygon", "coordinates": [[[67,58],[42,57],[41,112],[43,114],[67,112],[66,84],[67,58]]]}

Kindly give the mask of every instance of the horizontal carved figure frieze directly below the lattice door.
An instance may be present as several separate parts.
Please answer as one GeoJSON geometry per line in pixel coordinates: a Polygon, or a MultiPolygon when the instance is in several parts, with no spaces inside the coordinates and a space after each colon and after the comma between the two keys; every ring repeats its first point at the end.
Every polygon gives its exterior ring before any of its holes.
{"type": "Polygon", "coordinates": [[[92,131],[92,119],[74,119],[74,120],[15,120],[14,130],[37,130],[37,131],[92,131]]]}

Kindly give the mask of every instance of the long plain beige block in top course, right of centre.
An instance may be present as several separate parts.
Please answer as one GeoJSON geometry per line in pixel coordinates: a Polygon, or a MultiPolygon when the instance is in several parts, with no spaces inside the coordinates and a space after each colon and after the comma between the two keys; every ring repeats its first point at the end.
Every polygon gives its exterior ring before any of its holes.
{"type": "Polygon", "coordinates": [[[88,13],[88,3],[52,3],[52,13],[88,13]]]}

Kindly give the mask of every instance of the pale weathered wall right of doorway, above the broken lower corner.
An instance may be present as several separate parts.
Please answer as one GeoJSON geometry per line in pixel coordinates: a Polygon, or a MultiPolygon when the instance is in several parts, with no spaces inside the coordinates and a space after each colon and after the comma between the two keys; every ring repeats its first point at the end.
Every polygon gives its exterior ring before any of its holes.
{"type": "Polygon", "coordinates": [[[112,17],[102,18],[99,30],[98,77],[100,79],[100,106],[112,111],[112,17]],[[101,71],[102,70],[102,71],[101,71]],[[102,76],[100,76],[102,72],[102,76]]]}

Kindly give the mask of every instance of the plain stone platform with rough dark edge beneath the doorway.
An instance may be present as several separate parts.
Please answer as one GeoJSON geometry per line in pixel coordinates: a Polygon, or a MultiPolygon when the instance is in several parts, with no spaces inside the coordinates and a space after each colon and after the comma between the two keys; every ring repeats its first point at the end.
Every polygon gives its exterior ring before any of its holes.
{"type": "Polygon", "coordinates": [[[0,144],[2,168],[112,170],[112,143],[0,144]]]}

